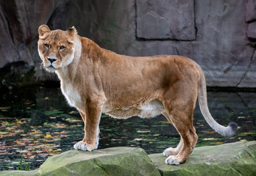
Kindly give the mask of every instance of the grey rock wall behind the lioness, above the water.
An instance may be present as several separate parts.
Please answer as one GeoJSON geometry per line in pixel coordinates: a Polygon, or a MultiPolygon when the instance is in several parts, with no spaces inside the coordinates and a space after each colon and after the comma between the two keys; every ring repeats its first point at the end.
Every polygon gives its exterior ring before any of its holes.
{"type": "Polygon", "coordinates": [[[57,80],[42,69],[37,51],[38,26],[46,23],[76,26],[118,54],[188,56],[205,71],[207,86],[256,87],[255,14],[255,0],[2,0],[0,81],[15,84],[10,73],[29,70],[32,81],[57,80]]]}

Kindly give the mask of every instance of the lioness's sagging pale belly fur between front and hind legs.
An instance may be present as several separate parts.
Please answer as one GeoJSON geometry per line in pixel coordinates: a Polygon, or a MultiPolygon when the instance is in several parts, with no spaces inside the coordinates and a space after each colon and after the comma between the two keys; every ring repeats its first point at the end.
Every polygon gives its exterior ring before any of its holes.
{"type": "Polygon", "coordinates": [[[155,117],[159,114],[162,114],[164,111],[163,104],[159,100],[152,100],[148,103],[144,103],[138,106],[129,106],[121,108],[113,108],[109,104],[106,104],[102,113],[109,114],[111,117],[118,119],[126,119],[132,116],[139,117],[155,117]]]}

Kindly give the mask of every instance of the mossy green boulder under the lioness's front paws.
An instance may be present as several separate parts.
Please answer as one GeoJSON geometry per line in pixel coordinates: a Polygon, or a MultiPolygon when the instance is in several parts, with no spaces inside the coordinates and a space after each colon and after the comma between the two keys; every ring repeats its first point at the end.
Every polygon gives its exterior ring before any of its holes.
{"type": "MultiPolygon", "coordinates": [[[[5,171],[0,175],[21,175],[5,171]]],[[[26,172],[25,172],[26,173],[26,172]]],[[[31,175],[160,175],[149,156],[141,148],[113,147],[93,152],[69,150],[49,157],[31,175]]]]}

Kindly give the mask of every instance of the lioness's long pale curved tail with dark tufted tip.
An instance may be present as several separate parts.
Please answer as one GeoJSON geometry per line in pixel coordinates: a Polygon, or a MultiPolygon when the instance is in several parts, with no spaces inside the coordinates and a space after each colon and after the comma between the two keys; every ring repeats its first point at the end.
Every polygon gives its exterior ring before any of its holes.
{"type": "Polygon", "coordinates": [[[205,74],[202,71],[202,68],[198,65],[198,70],[200,72],[199,77],[199,87],[198,87],[198,101],[199,106],[202,112],[202,115],[205,117],[206,122],[213,128],[217,133],[220,133],[222,136],[233,136],[238,130],[238,124],[235,122],[230,122],[227,127],[219,125],[210,114],[210,111],[207,106],[207,91],[206,91],[206,82],[205,74]]]}

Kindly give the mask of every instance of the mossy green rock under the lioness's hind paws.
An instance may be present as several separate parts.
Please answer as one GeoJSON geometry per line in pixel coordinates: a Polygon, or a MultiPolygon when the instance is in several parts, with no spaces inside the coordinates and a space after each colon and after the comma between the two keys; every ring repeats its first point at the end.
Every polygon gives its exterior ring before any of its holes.
{"type": "Polygon", "coordinates": [[[161,175],[256,175],[256,141],[196,147],[178,166],[165,164],[162,153],[149,155],[161,175]]]}

